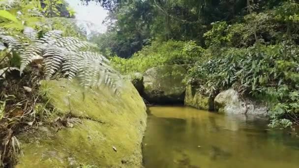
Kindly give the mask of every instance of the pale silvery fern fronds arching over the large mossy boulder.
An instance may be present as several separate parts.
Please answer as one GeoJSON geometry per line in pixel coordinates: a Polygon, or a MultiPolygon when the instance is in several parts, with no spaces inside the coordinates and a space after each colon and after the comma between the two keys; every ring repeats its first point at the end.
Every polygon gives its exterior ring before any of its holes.
{"type": "Polygon", "coordinates": [[[9,36],[2,31],[0,39],[20,55],[21,75],[30,63],[42,61],[46,79],[61,73],[69,80],[77,77],[85,88],[105,84],[119,93],[119,73],[109,66],[107,58],[87,51],[95,47],[90,42],[63,37],[60,30],[48,31],[39,37],[39,31],[33,28],[25,28],[19,36],[9,36]]]}

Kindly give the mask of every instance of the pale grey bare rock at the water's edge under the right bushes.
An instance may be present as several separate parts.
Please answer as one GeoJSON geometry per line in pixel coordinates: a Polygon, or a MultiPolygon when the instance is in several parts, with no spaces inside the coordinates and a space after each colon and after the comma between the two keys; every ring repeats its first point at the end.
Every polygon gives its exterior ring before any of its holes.
{"type": "Polygon", "coordinates": [[[252,114],[268,116],[268,108],[255,103],[248,98],[241,98],[238,91],[233,88],[220,92],[214,100],[214,108],[218,112],[252,114]]]}

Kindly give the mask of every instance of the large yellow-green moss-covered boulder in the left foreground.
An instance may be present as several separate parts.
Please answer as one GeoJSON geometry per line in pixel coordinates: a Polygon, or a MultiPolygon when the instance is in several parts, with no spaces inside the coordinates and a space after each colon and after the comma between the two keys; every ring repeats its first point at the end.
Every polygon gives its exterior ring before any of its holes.
{"type": "Polygon", "coordinates": [[[21,134],[24,156],[17,168],[142,167],[146,106],[129,81],[120,96],[108,88],[84,91],[77,82],[64,80],[43,81],[41,89],[55,108],[52,116],[67,118],[69,127],[50,126],[59,125],[57,118],[21,134]]]}

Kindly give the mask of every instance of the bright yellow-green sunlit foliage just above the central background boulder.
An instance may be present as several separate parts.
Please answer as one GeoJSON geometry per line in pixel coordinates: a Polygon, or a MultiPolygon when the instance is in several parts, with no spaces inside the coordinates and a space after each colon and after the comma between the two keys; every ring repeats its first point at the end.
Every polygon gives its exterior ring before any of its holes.
{"type": "Polygon", "coordinates": [[[113,66],[122,73],[145,72],[158,65],[182,64],[189,66],[201,59],[204,52],[204,49],[197,46],[194,41],[169,40],[162,43],[155,41],[129,59],[114,56],[111,61],[113,66]]]}

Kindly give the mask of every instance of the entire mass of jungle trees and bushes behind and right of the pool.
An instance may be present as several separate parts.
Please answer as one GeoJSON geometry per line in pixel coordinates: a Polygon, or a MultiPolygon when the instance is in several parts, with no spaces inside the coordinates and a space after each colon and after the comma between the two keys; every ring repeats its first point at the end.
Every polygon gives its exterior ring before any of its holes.
{"type": "Polygon", "coordinates": [[[122,73],[187,65],[186,84],[235,87],[268,104],[269,126],[299,124],[298,0],[95,1],[108,31],[91,41],[122,73]]]}

